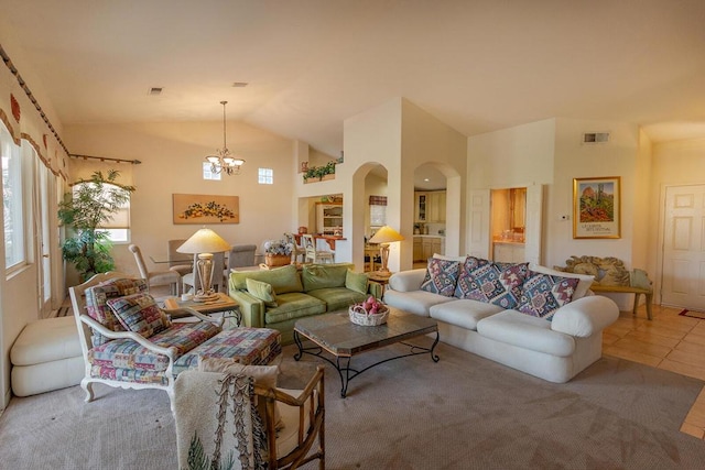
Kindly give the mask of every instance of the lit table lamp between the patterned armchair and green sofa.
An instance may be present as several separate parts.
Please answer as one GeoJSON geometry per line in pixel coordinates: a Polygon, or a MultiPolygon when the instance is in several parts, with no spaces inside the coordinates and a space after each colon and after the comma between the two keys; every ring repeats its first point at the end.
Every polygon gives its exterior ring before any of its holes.
{"type": "Polygon", "coordinates": [[[213,253],[223,253],[230,250],[230,244],[210,229],[203,228],[191,236],[188,240],[176,249],[180,253],[197,254],[198,278],[200,289],[194,296],[196,302],[210,302],[218,298],[213,291],[213,253]]]}

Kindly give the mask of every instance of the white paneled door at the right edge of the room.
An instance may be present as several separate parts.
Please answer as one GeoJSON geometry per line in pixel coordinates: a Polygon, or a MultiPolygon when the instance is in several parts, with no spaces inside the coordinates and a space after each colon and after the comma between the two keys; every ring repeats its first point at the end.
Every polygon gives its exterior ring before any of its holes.
{"type": "Polygon", "coordinates": [[[705,185],[665,189],[661,303],[705,310],[705,185]]]}

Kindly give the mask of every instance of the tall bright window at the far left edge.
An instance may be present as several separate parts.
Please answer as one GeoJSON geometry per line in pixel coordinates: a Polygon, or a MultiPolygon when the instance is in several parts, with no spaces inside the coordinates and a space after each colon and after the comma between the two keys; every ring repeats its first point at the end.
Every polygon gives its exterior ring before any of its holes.
{"type": "Polygon", "coordinates": [[[26,260],[24,250],[24,217],[22,210],[22,154],[10,132],[0,124],[2,154],[2,207],[4,226],[4,266],[19,266],[26,260]]]}

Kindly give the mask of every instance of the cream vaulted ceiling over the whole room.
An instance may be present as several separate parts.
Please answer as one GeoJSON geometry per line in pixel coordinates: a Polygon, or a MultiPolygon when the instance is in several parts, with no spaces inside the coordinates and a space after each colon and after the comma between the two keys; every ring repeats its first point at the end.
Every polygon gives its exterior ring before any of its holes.
{"type": "Polygon", "coordinates": [[[703,0],[0,0],[0,13],[65,124],[219,120],[228,100],[228,119],[337,156],[346,118],[403,96],[466,135],[552,117],[705,135],[703,0]]]}

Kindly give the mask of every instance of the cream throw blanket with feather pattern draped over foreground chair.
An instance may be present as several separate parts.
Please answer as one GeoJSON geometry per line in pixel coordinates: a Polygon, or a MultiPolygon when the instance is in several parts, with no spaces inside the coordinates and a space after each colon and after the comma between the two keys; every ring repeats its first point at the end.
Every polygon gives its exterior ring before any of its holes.
{"type": "Polygon", "coordinates": [[[174,385],[178,468],[267,468],[265,434],[250,376],[185,371],[174,385]]]}

